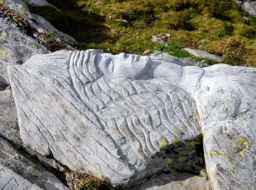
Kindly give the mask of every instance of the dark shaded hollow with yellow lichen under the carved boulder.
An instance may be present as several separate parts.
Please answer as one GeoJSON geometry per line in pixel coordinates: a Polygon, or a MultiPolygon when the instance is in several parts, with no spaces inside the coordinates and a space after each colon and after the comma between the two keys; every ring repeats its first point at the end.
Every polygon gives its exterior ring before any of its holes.
{"type": "MultiPolygon", "coordinates": [[[[138,186],[155,180],[156,178],[162,181],[162,175],[170,176],[169,180],[161,182],[161,186],[172,181],[187,180],[193,176],[201,175],[202,170],[206,169],[204,151],[203,151],[203,135],[199,134],[193,140],[187,140],[184,142],[173,142],[171,145],[167,145],[160,149],[159,152],[152,156],[152,159],[165,162],[165,167],[153,175],[148,175],[146,178],[132,183],[126,187],[118,187],[116,189],[137,189],[138,186]],[[179,177],[177,178],[176,175],[179,177]]],[[[157,186],[157,184],[154,184],[157,186]]]]}

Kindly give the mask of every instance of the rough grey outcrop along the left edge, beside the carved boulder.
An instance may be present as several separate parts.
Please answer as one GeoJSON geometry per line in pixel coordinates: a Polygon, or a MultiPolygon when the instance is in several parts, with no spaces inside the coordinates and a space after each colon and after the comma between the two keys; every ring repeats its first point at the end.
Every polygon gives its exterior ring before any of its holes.
{"type": "Polygon", "coordinates": [[[2,3],[0,1],[0,189],[67,189],[55,176],[63,175],[66,168],[32,151],[20,138],[7,66],[20,65],[35,54],[69,46],[64,39],[46,34],[48,28],[44,27],[44,20],[31,15],[23,1],[4,1],[5,6],[2,3]],[[34,20],[42,20],[42,27],[34,20]]]}

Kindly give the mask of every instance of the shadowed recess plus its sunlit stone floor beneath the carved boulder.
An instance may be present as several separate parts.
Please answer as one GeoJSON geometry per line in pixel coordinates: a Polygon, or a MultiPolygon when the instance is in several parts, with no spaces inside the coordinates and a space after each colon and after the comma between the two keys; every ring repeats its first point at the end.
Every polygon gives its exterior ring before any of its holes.
{"type": "Polygon", "coordinates": [[[208,188],[208,178],[204,172],[206,166],[202,135],[187,142],[177,139],[172,145],[163,147],[156,156],[166,162],[166,167],[159,173],[135,183],[129,190],[150,189],[156,186],[166,189],[208,188]]]}

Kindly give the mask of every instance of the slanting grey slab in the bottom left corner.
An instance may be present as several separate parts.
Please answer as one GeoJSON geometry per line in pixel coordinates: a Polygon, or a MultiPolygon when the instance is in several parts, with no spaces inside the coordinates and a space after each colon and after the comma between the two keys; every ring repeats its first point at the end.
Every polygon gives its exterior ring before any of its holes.
{"type": "Polygon", "coordinates": [[[0,189],[68,189],[36,161],[0,137],[0,189]]]}

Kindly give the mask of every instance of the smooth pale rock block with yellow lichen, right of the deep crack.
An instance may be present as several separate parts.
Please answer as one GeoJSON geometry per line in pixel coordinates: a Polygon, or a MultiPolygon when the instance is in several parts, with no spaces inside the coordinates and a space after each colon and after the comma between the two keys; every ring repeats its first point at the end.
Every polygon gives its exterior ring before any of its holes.
{"type": "Polygon", "coordinates": [[[256,69],[206,67],[195,92],[214,189],[256,189],[256,69]]]}

